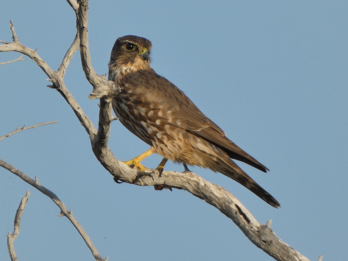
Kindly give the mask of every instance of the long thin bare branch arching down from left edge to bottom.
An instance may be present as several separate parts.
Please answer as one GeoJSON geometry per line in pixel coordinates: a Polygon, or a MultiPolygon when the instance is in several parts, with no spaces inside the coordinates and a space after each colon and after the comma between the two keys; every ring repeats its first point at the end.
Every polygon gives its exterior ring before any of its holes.
{"type": "MultiPolygon", "coordinates": [[[[73,226],[76,228],[76,230],[79,232],[81,237],[84,239],[86,245],[88,246],[89,250],[92,252],[94,258],[98,261],[107,261],[108,257],[103,259],[101,255],[99,254],[98,250],[93,245],[92,241],[90,240],[89,236],[87,235],[86,231],[81,227],[79,222],[76,220],[76,218],[73,216],[71,211],[68,211],[68,209],[65,207],[63,202],[57,197],[55,193],[50,191],[49,189],[42,186],[37,177],[35,177],[35,180],[31,179],[29,176],[25,175],[23,172],[21,172],[19,169],[16,169],[14,166],[11,166],[10,164],[6,163],[2,159],[0,159],[0,166],[7,169],[8,171],[12,172],[16,176],[20,177],[22,180],[24,180],[26,183],[32,185],[34,188],[38,189],[40,192],[44,193],[47,197],[53,200],[53,202],[60,208],[61,214],[66,216],[69,221],[73,224],[73,226]]],[[[17,214],[16,214],[17,215],[17,214]]],[[[19,226],[19,225],[18,225],[19,226]]],[[[16,228],[16,226],[15,226],[16,228]]],[[[19,228],[19,227],[18,227],[19,228]]]]}

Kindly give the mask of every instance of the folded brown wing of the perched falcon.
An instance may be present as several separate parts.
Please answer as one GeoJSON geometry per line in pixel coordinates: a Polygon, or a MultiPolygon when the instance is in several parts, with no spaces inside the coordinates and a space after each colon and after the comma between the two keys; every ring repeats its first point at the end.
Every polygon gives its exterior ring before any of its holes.
{"type": "Polygon", "coordinates": [[[242,161],[263,172],[268,171],[267,167],[228,139],[219,126],[205,116],[179,88],[166,78],[155,71],[137,71],[136,74],[137,76],[134,77],[133,73],[129,73],[124,81],[127,85],[134,86],[134,91],[142,96],[143,101],[150,101],[152,104],[165,103],[171,110],[172,116],[180,119],[177,121],[179,123],[171,122],[172,125],[211,142],[232,159],[242,161]]]}

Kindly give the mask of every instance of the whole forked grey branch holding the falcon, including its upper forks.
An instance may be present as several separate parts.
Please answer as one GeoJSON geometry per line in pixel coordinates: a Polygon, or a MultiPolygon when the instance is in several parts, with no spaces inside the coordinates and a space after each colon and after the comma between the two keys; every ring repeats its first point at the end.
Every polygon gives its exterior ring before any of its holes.
{"type": "MultiPolygon", "coordinates": [[[[270,229],[270,222],[268,222],[267,226],[260,224],[230,192],[222,187],[214,185],[192,172],[178,173],[164,171],[161,176],[159,176],[158,171],[149,168],[146,168],[145,172],[140,172],[137,168],[132,169],[114,157],[107,143],[110,133],[110,122],[113,119],[110,101],[114,95],[117,95],[119,87],[114,82],[107,81],[105,76],[98,76],[92,67],[88,48],[88,1],[79,0],[77,3],[72,0],[67,1],[77,15],[77,35],[79,35],[82,69],[85,72],[86,79],[93,86],[93,92],[89,95],[89,98],[100,98],[98,130],[95,129],[93,124],[80,109],[78,103],[71,96],[68,89],[66,89],[63,81],[63,69],[50,71],[47,69],[46,63],[38,58],[36,59],[38,59],[40,63],[37,62],[37,64],[49,76],[50,81],[53,82],[52,87],[60,92],[77,115],[82,126],[84,126],[89,134],[92,150],[96,158],[100,161],[102,166],[114,176],[114,180],[141,186],[164,185],[167,188],[187,190],[192,195],[204,199],[208,204],[219,209],[219,211],[229,217],[243,231],[253,244],[261,248],[274,259],[294,261],[308,260],[305,256],[301,255],[278,238],[270,229]]],[[[11,27],[11,30],[13,30],[14,35],[13,26],[11,27]]],[[[76,42],[75,38],[72,46],[74,46],[76,42]]],[[[74,50],[73,47],[70,48],[72,51],[74,50]]],[[[24,54],[29,54],[28,56],[33,60],[35,57],[38,57],[36,53],[33,54],[27,49],[15,41],[13,43],[0,45],[0,51],[13,50],[21,53],[26,52],[24,54]],[[10,47],[7,47],[6,49],[6,46],[10,47]]],[[[70,55],[68,56],[70,57],[70,55]]],[[[64,61],[67,60],[63,59],[63,62],[64,61]]],[[[67,61],[67,63],[68,62],[69,61],[67,61]]],[[[61,66],[66,68],[66,64],[61,66]]]]}

